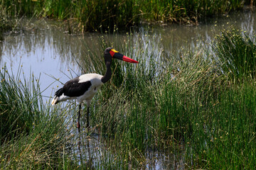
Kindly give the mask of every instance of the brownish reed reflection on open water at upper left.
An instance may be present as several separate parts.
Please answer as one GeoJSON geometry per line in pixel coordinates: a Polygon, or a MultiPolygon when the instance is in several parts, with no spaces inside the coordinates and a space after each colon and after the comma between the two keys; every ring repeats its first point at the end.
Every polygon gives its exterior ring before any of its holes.
{"type": "Polygon", "coordinates": [[[74,45],[74,41],[73,37],[65,35],[61,33],[60,30],[54,28],[50,28],[50,30],[33,28],[31,30],[21,31],[15,35],[6,36],[3,42],[3,52],[6,53],[8,57],[12,57],[11,60],[16,60],[16,58],[21,57],[16,56],[16,52],[18,51],[26,54],[28,52],[35,53],[36,50],[40,50],[41,56],[36,56],[38,60],[42,60],[41,57],[43,56],[51,58],[59,56],[60,63],[68,63],[74,62],[74,57],[71,52],[80,55],[80,46],[74,45]],[[46,51],[50,53],[50,56],[44,54],[46,51]]]}

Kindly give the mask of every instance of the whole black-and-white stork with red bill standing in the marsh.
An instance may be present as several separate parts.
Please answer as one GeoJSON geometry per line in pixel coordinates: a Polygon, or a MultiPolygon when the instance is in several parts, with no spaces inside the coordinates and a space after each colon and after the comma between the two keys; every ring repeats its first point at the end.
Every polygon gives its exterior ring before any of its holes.
{"type": "Polygon", "coordinates": [[[105,57],[105,64],[107,67],[107,72],[104,76],[100,74],[82,74],[80,77],[76,77],[75,79],[71,79],[70,81],[66,82],[63,88],[58,89],[55,92],[55,96],[53,97],[52,105],[60,101],[66,101],[70,99],[76,99],[79,104],[79,111],[78,111],[78,128],[80,128],[80,110],[81,110],[81,103],[85,101],[87,104],[87,125],[89,127],[89,108],[90,103],[92,101],[93,96],[97,93],[100,89],[102,84],[105,84],[111,78],[111,63],[112,58],[116,58],[119,60],[123,60],[125,62],[132,62],[138,63],[135,60],[126,57],[125,55],[120,54],[112,47],[107,47],[104,52],[105,57]]]}

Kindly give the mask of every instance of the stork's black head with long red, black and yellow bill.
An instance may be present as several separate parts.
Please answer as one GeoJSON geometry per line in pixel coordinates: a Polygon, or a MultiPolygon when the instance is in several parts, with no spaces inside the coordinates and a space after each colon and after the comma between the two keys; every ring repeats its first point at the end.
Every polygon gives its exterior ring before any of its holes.
{"type": "Polygon", "coordinates": [[[124,62],[132,62],[132,63],[138,63],[136,60],[132,60],[131,58],[122,55],[121,53],[119,53],[117,50],[114,50],[114,48],[112,47],[107,47],[105,52],[105,62],[112,62],[112,58],[116,58],[119,60],[123,60],[124,62]]]}

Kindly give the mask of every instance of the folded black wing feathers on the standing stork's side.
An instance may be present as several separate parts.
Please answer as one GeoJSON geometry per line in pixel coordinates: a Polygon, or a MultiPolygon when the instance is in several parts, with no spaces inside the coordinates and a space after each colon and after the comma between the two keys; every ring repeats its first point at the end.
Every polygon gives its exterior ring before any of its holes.
{"type": "MultiPolygon", "coordinates": [[[[70,97],[77,97],[77,96],[82,96],[82,94],[85,94],[85,91],[87,91],[90,86],[92,86],[91,81],[85,81],[82,83],[78,83],[79,77],[76,77],[75,79],[72,79],[68,82],[66,82],[63,86],[63,91],[62,94],[65,96],[70,96],[70,97]]],[[[58,91],[56,91],[57,93],[58,91]]]]}

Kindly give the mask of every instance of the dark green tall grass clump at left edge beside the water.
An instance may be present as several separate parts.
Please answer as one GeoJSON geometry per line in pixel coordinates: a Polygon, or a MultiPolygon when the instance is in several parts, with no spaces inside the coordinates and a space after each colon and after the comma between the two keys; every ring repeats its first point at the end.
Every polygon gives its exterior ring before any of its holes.
{"type": "MultiPolygon", "coordinates": [[[[21,74],[21,72],[18,72],[21,74]]],[[[21,75],[19,75],[20,77],[21,75]]],[[[33,78],[33,81],[36,79],[33,78]]],[[[1,136],[5,137],[1,140],[15,138],[19,134],[28,133],[29,128],[33,127],[33,123],[40,116],[38,105],[40,98],[33,98],[33,94],[38,94],[38,87],[31,86],[32,91],[27,88],[28,81],[21,83],[14,74],[9,74],[6,67],[1,70],[1,136]],[[31,101],[37,101],[31,102],[31,101]],[[14,107],[15,106],[15,107],[14,107]]],[[[31,85],[31,84],[30,84],[31,85]]],[[[4,142],[4,141],[1,141],[4,142]]]]}

